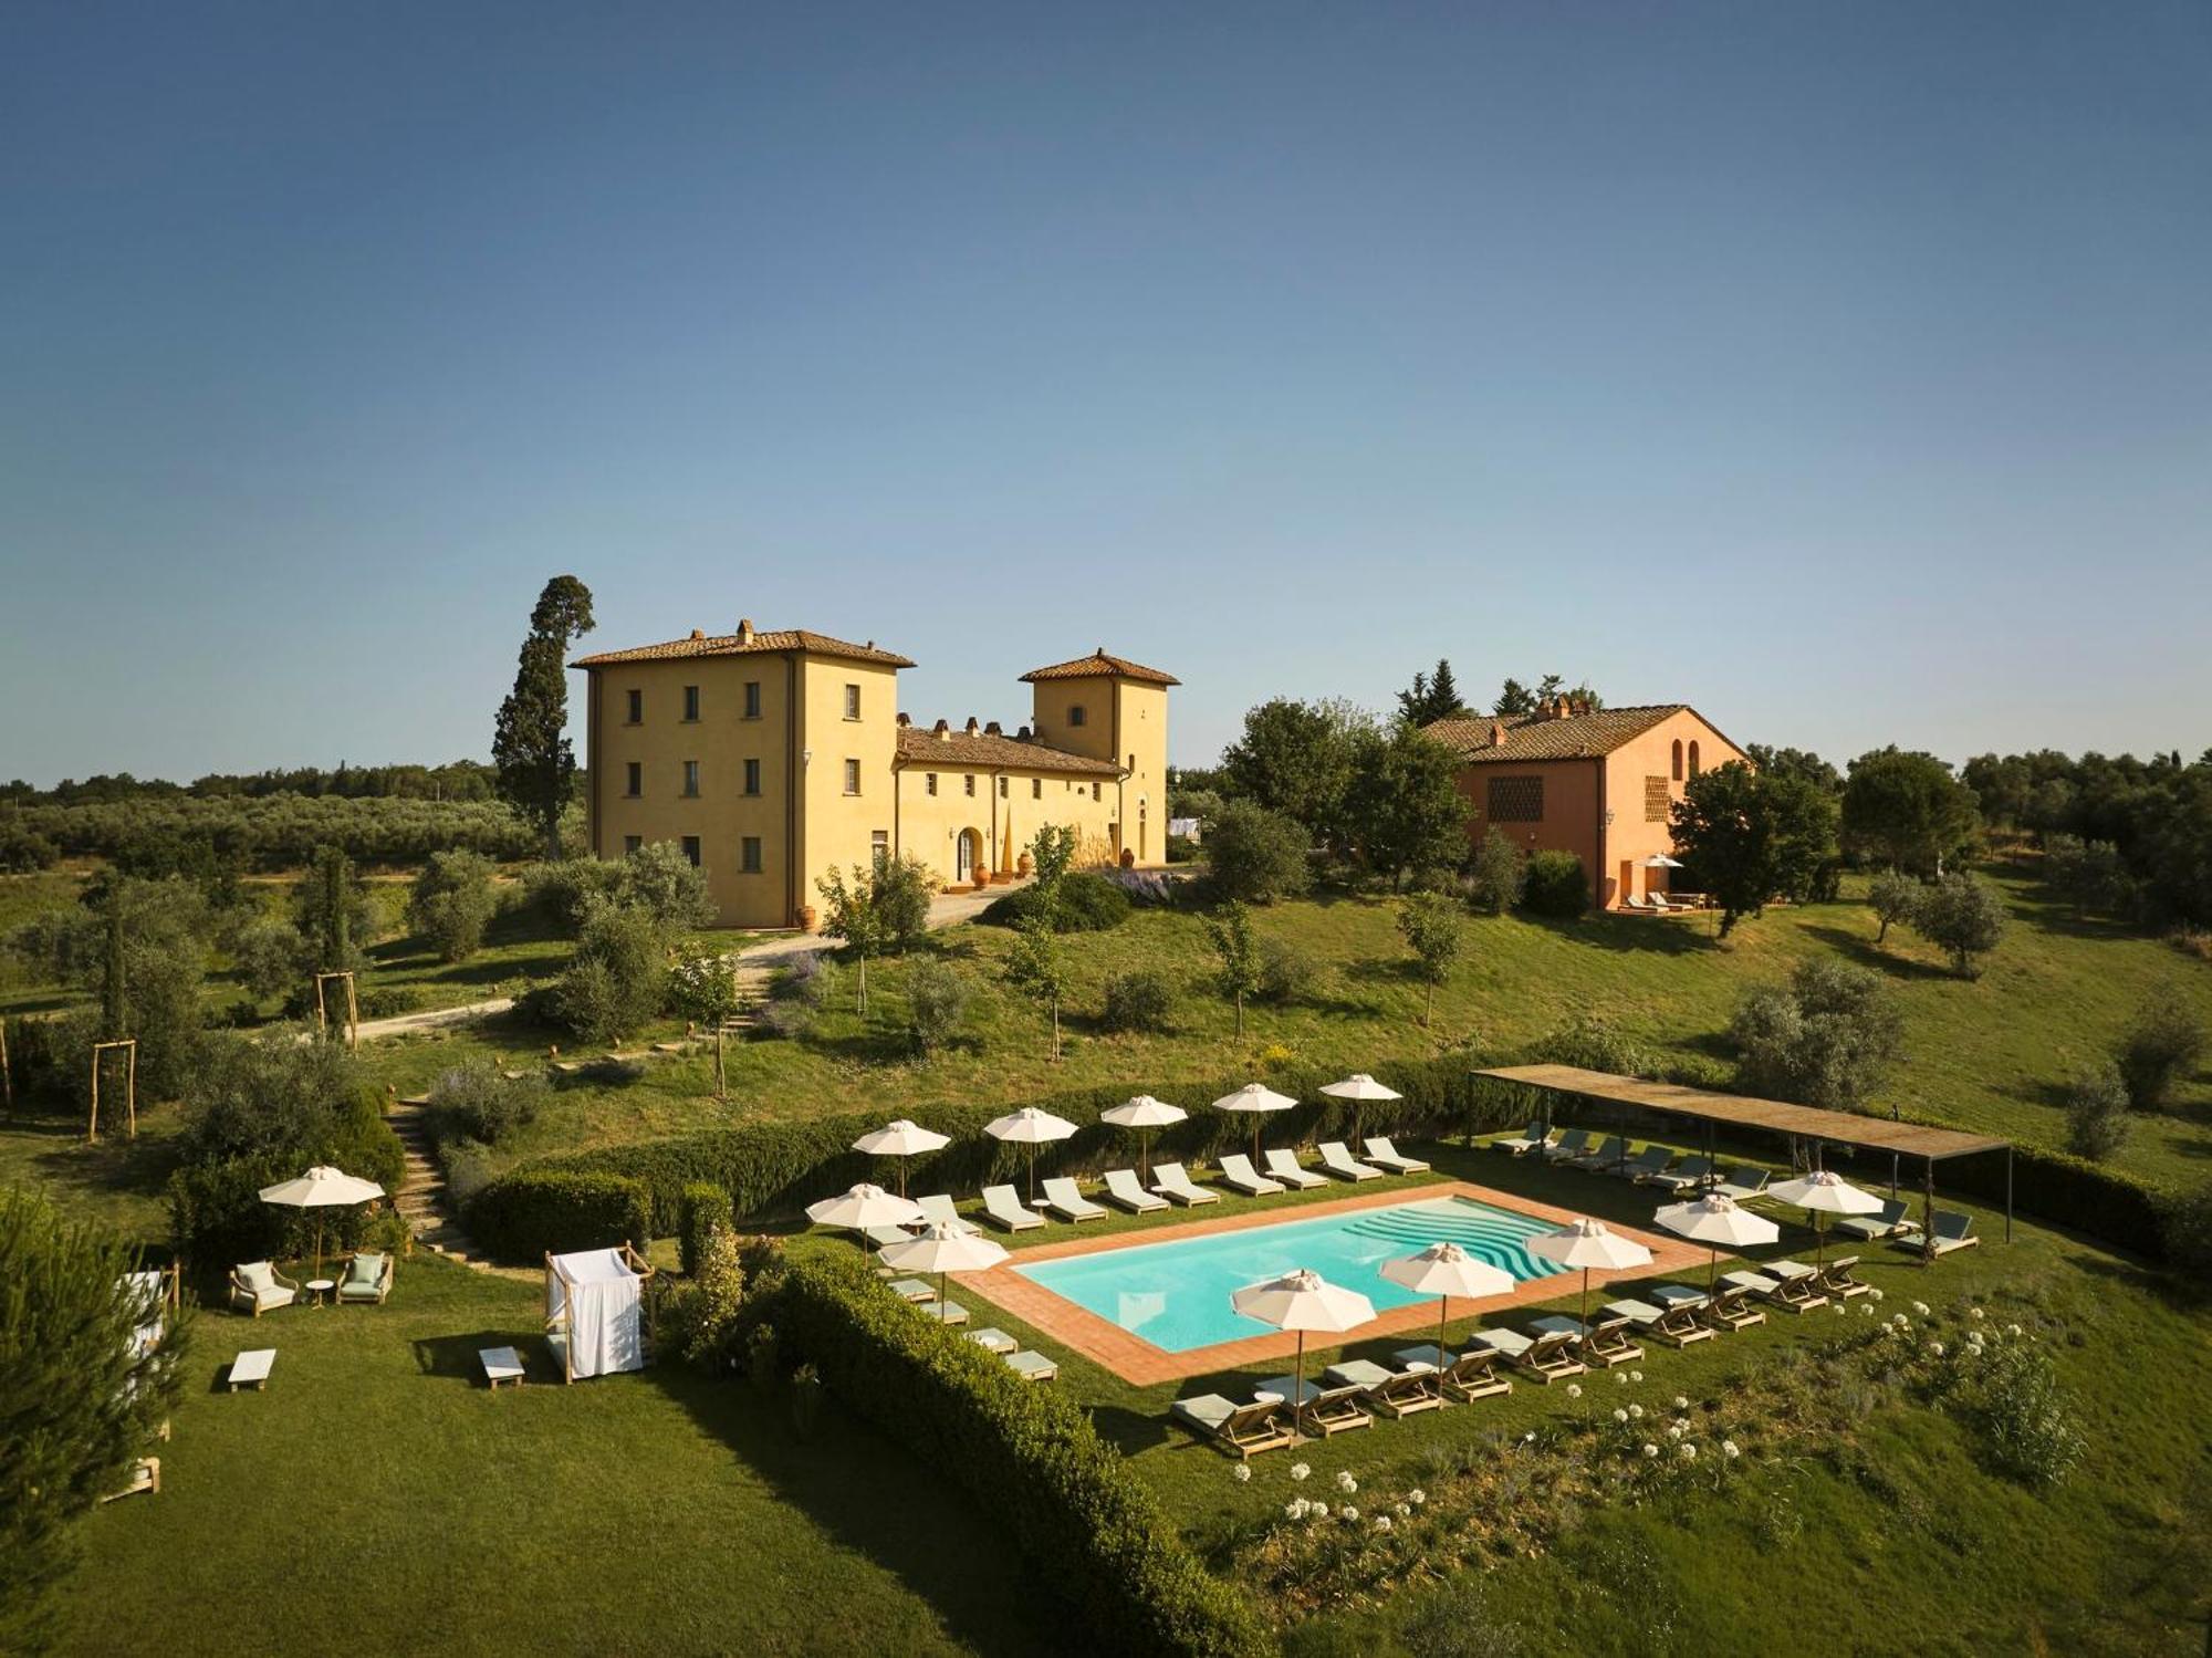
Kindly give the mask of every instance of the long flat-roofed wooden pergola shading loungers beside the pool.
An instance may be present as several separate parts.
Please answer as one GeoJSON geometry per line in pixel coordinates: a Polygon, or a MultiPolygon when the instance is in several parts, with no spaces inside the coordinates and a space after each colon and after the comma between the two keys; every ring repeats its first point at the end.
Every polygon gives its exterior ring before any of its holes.
{"type": "MultiPolygon", "coordinates": [[[[1491,1077],[1502,1083],[1520,1083],[1546,1096],[1544,1125],[1551,1127],[1551,1096],[1573,1094],[1577,1099],[1601,1099],[1610,1105],[1635,1105],[1646,1112],[1670,1116],[1694,1116],[1705,1123],[1705,1152],[1712,1152],[1712,1127],[1761,1130],[1765,1134],[1792,1134],[1814,1143],[1814,1165],[1818,1167],[1820,1145],[1849,1145],[1860,1152],[1889,1152],[1889,1196],[1898,1196],[1898,1161],[1922,1161],[1922,1216],[1920,1236],[1924,1247],[1936,1238],[1936,1165],[1951,1156],[1975,1156],[1978,1152],[2004,1152],[2004,1242],[2013,1240],[2013,1143],[1991,1134],[1966,1134],[1955,1127],[1929,1127],[1924,1123],[1900,1123],[1885,1116],[1856,1116],[1851,1112],[1825,1112],[1816,1105],[1792,1105],[1781,1099],[1754,1099],[1750,1094],[1717,1094],[1710,1088],[1688,1088],[1683,1083],[1652,1083],[1641,1077],[1615,1077],[1608,1070],[1582,1070],[1579,1066],[1498,1066],[1478,1070],[1475,1077],[1491,1077]]],[[[1626,1145],[1621,1147],[1626,1156],[1626,1145]]]]}

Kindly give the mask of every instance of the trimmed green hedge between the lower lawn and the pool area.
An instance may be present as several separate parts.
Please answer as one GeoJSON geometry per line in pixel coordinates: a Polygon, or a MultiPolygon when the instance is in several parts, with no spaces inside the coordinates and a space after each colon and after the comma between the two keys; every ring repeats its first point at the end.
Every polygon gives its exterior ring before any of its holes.
{"type": "Polygon", "coordinates": [[[916,1318],[849,1260],[807,1260],[776,1291],[787,1355],[852,1410],[1002,1519],[1066,1592],[1082,1645],[1115,1654],[1259,1658],[1245,1596],[1183,1543],[1150,1486],[1057,1388],[1022,1382],[973,1342],[916,1318]]]}

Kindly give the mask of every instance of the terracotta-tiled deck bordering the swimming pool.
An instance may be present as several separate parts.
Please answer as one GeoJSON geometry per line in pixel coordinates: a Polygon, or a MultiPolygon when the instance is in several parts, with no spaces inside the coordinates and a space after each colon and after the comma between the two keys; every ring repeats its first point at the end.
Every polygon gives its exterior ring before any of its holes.
{"type": "MultiPolygon", "coordinates": [[[[1212,1346],[1194,1346],[1186,1353],[1168,1353],[1152,1346],[1141,1335],[1130,1335],[1119,1324],[1077,1307],[1064,1295],[1055,1295],[1044,1289],[1044,1284],[1031,1282],[1018,1273],[1015,1267],[1026,1267],[1037,1260],[1066,1260],[1068,1256],[1095,1256],[1104,1249],[1128,1249],[1133,1245],[1172,1242],[1177,1238],[1210,1238],[1223,1231],[1248,1231],[1252,1227],[1279,1227],[1290,1220],[1318,1220],[1323,1216],[1356,1214],[1360,1209],[1389,1209],[1400,1203],[1418,1203],[1425,1198],[1473,1198],[1498,1209],[1537,1216],[1540,1220],[1557,1220],[1562,1227],[1568,1220],[1582,1218],[1577,1209],[1562,1209],[1551,1203],[1524,1198],[1515,1192],[1498,1192],[1495,1187],[1473,1185],[1471,1180],[1425,1180],[1418,1185],[1400,1185],[1394,1180],[1385,1192],[1363,1192],[1343,1198],[1327,1198],[1323,1203],[1287,1205],[1281,1209],[1250,1209],[1243,1214],[1232,1209],[1230,1214],[1208,1214],[1201,1220],[1179,1220],[1175,1225],[1146,1227],[1139,1231],[1115,1231],[1091,1238],[1071,1236],[1048,1245],[1035,1245],[1033,1249],[1018,1249],[1011,1260],[1002,1267],[993,1267],[991,1271],[953,1273],[953,1282],[958,1282],[960,1289],[980,1295],[993,1307],[1000,1307],[1022,1322],[1044,1331],[1071,1353],[1082,1353],[1093,1364],[1106,1366],[1124,1382],[1155,1386],[1161,1382],[1179,1382],[1186,1375],[1212,1375],[1214,1371],[1237,1371],[1245,1364],[1261,1364],[1265,1360],[1285,1360],[1296,1353],[1298,1337],[1285,1331],[1265,1331],[1261,1335],[1243,1335],[1234,1342],[1214,1342],[1212,1346]]],[[[1237,1198],[1225,1196],[1221,1203],[1234,1205],[1237,1198]]],[[[1635,1227],[1613,1227],[1610,1222],[1608,1229],[1650,1249],[1652,1260],[1648,1267],[1593,1271],[1593,1291],[1624,1278],[1672,1276],[1690,1271],[1692,1267],[1701,1269],[1710,1260],[1705,1249],[1683,1242],[1681,1238],[1663,1238],[1650,1231],[1637,1231],[1635,1227]]],[[[1482,1302],[1467,1302],[1464,1309],[1460,1302],[1453,1302],[1453,1313],[1464,1315],[1480,1311],[1489,1318],[1509,1307],[1559,1300],[1566,1293],[1579,1293],[1579,1289],[1582,1273],[1531,1278],[1517,1284],[1511,1295],[1491,1295],[1482,1302]]],[[[1307,1357],[1332,1346],[1343,1346],[1345,1342],[1367,1342],[1378,1335],[1400,1335],[1407,1331],[1436,1331],[1433,1300],[1420,1300],[1411,1307],[1394,1307],[1387,1313],[1378,1313],[1374,1322],[1360,1324],[1356,1331],[1345,1331],[1340,1337],[1312,1337],[1307,1340],[1307,1357]]]]}

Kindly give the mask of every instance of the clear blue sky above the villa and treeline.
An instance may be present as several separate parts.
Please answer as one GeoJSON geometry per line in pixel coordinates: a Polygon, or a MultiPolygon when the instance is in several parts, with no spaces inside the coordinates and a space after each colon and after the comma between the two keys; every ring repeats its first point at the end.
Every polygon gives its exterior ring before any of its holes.
{"type": "Polygon", "coordinates": [[[0,778],[482,756],[562,570],[2197,754],[2212,7],[7,7],[0,778]]]}

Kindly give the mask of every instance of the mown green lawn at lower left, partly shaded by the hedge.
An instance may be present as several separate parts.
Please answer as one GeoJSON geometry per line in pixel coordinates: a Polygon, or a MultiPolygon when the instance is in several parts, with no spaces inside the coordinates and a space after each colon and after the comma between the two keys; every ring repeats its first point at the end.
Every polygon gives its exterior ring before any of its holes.
{"type": "MultiPolygon", "coordinates": [[[[161,1494],[84,1525],[71,1654],[1026,1654],[1048,1603],[947,1483],[838,1413],[681,1366],[495,1397],[535,1282],[416,1258],[383,1309],[195,1326],[161,1494]],[[265,1393],[219,1391],[274,1346],[265,1393]]],[[[538,1346],[542,1364],[542,1346],[538,1346]]]]}

